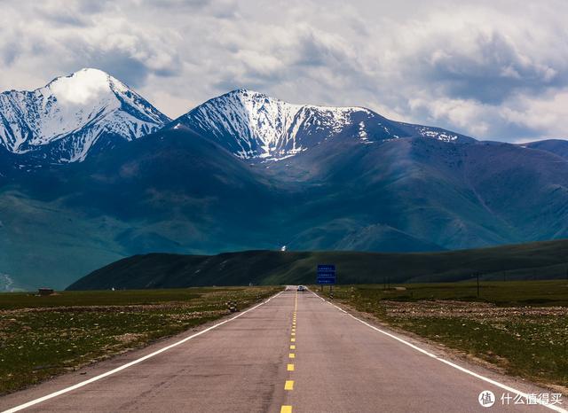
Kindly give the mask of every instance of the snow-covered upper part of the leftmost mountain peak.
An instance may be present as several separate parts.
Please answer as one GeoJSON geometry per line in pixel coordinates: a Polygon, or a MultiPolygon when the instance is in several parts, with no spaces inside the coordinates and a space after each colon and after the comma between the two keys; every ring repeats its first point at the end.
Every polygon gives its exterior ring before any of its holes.
{"type": "Polygon", "coordinates": [[[168,121],[98,69],[58,77],[40,89],[0,94],[0,145],[54,163],[84,160],[95,146],[145,136],[168,121]]]}

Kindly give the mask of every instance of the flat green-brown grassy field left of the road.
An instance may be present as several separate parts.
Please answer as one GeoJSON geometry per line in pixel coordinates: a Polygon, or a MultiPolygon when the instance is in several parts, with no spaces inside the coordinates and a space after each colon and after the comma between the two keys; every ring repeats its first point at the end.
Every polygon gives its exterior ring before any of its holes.
{"type": "Polygon", "coordinates": [[[0,394],[246,308],[279,287],[0,294],[0,394]]]}

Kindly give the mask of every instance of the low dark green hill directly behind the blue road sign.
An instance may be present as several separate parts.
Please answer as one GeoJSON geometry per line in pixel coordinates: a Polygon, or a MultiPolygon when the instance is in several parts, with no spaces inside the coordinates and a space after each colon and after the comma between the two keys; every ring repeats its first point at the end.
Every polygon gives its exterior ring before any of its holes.
{"type": "Polygon", "coordinates": [[[432,283],[481,279],[564,279],[568,240],[441,253],[242,251],[217,255],[149,253],[124,258],[67,286],[74,290],[204,285],[314,284],[316,265],[335,263],[338,284],[432,283]]]}

